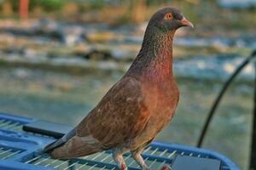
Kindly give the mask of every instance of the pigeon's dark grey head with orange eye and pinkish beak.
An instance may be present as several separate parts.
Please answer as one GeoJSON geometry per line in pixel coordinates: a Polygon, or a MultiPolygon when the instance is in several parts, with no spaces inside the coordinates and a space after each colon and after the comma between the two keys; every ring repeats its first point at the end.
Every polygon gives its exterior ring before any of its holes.
{"type": "Polygon", "coordinates": [[[152,16],[148,26],[157,27],[161,31],[176,31],[182,26],[194,27],[177,8],[160,9],[152,16]]]}

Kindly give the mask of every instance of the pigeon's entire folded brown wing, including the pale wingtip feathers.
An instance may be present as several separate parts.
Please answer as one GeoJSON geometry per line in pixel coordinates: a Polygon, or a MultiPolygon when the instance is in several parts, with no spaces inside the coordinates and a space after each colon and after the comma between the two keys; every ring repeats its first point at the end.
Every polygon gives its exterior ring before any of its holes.
{"type": "Polygon", "coordinates": [[[79,123],[76,134],[51,155],[71,158],[111,149],[141,133],[149,117],[140,82],[124,77],[79,123]]]}

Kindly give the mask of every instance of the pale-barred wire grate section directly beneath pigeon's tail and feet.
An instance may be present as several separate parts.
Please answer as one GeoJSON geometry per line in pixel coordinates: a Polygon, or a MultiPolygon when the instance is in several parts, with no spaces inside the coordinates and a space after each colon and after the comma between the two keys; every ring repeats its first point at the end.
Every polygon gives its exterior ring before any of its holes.
{"type": "MultiPolygon", "coordinates": [[[[159,169],[165,163],[170,163],[170,160],[176,155],[177,150],[169,152],[167,149],[164,151],[160,151],[159,148],[153,148],[149,146],[143,152],[143,157],[148,164],[148,167],[151,169],[159,169]],[[163,158],[163,157],[166,158],[163,158]]],[[[125,154],[124,156],[125,162],[128,167],[132,169],[139,169],[139,165],[134,159],[132,159],[131,154],[125,154]]],[[[36,156],[26,163],[30,163],[33,165],[39,165],[44,167],[54,167],[56,169],[115,169],[116,166],[114,164],[112,155],[110,151],[101,152],[98,154],[84,156],[79,159],[72,159],[67,161],[55,160],[50,156],[42,155],[36,156]],[[96,163],[101,162],[101,163],[96,163]]]]}

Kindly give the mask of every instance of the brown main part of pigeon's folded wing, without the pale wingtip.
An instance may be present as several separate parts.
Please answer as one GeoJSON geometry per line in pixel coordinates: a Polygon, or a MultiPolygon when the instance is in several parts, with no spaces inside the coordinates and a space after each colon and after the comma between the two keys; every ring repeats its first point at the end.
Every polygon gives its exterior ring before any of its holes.
{"type": "Polygon", "coordinates": [[[78,136],[92,136],[106,149],[132,139],[149,119],[141,83],[125,77],[108,91],[77,127],[78,136]]]}

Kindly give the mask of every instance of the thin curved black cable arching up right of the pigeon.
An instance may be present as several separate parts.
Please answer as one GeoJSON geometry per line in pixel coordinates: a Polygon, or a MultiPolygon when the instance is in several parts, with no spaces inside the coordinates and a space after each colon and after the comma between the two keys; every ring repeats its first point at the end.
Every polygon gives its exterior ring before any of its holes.
{"type": "Polygon", "coordinates": [[[242,69],[248,64],[250,63],[253,58],[256,56],[256,49],[253,51],[252,54],[250,54],[247,59],[245,59],[241,65],[239,65],[236,68],[236,71],[233,72],[233,74],[230,76],[230,78],[227,80],[227,82],[224,83],[223,88],[221,89],[220,93],[218,94],[218,97],[215,99],[211,110],[208,113],[207,116],[207,120],[204,123],[204,126],[202,128],[199,140],[197,142],[197,147],[201,147],[201,144],[203,143],[203,140],[205,139],[206,133],[207,133],[207,129],[209,127],[210,122],[212,121],[212,116],[215,114],[215,111],[218,107],[218,104],[220,102],[220,100],[222,99],[222,97],[224,96],[224,93],[226,92],[227,88],[229,88],[230,83],[234,80],[234,78],[238,75],[238,73],[240,73],[242,71],[242,69]]]}

